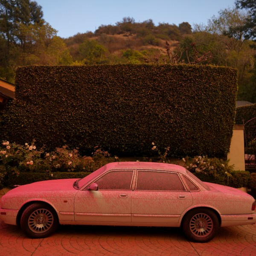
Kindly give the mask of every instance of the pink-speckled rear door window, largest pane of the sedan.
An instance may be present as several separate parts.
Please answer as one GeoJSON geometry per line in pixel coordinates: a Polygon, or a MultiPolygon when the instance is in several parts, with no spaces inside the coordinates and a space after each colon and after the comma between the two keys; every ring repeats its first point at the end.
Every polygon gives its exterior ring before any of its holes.
{"type": "Polygon", "coordinates": [[[139,171],[137,190],[184,191],[185,188],[177,173],[139,171]]]}

